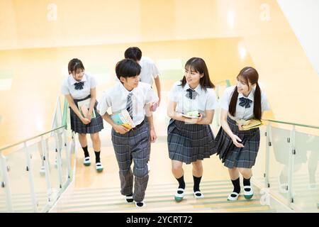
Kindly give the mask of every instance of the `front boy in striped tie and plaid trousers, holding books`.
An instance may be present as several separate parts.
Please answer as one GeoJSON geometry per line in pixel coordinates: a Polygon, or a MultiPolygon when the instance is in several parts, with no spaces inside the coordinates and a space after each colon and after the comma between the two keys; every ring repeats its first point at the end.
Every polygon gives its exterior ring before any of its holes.
{"type": "Polygon", "coordinates": [[[156,140],[152,112],[149,110],[150,105],[158,101],[150,84],[140,82],[140,68],[137,62],[130,59],[118,62],[116,76],[120,82],[105,92],[97,106],[103,119],[113,127],[111,135],[120,169],[121,194],[126,196],[128,202],[135,201],[138,207],[145,206],[143,199],[149,179],[147,160],[150,158],[150,143],[156,140]],[[129,130],[116,125],[107,112],[108,107],[111,107],[112,113],[126,109],[136,127],[129,130]],[[145,123],[145,115],[148,124],[145,123]],[[133,173],[130,169],[132,160],[133,173]]]}

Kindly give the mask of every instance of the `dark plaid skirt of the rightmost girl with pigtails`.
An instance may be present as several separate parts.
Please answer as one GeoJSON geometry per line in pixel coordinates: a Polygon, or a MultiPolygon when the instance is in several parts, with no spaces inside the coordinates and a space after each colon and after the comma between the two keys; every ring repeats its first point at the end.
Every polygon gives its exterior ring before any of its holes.
{"type": "Polygon", "coordinates": [[[233,144],[233,140],[231,140],[230,136],[220,127],[213,145],[216,154],[219,155],[225,167],[251,168],[256,161],[259,150],[259,128],[240,131],[236,125],[236,121],[229,116],[227,122],[230,130],[242,140],[241,143],[244,145],[244,148],[237,148],[233,144]]]}

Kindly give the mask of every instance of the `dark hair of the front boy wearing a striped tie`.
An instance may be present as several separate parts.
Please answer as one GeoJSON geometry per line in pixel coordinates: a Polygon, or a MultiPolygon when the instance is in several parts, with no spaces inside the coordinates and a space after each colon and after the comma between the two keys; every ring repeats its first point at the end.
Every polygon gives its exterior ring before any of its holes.
{"type": "Polygon", "coordinates": [[[136,77],[140,74],[140,65],[134,60],[125,58],[116,64],[116,77],[136,77]]]}

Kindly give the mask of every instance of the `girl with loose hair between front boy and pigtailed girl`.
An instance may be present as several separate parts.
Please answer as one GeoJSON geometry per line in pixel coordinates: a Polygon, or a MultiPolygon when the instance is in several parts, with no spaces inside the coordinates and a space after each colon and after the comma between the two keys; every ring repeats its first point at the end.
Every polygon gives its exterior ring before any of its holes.
{"type": "Polygon", "coordinates": [[[214,87],[204,60],[192,57],[186,62],[184,77],[169,92],[168,116],[171,120],[167,128],[167,143],[172,173],[179,182],[175,201],[184,198],[183,162],[193,165],[194,197],[203,197],[199,189],[203,175],[201,162],[214,152],[210,126],[218,105],[214,87]],[[187,115],[190,113],[195,116],[187,115]]]}

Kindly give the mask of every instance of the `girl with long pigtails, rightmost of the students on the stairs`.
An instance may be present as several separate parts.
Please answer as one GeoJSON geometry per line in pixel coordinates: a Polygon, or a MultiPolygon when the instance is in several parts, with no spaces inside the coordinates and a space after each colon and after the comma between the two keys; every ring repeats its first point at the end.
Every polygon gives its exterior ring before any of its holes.
{"type": "Polygon", "coordinates": [[[228,200],[237,200],[240,194],[240,174],[243,177],[245,199],[254,192],[250,184],[252,166],[259,150],[259,128],[244,131],[242,120],[261,120],[262,112],[269,110],[267,98],[258,84],[258,72],[244,67],[237,75],[237,85],[225,89],[220,102],[220,131],[214,141],[217,155],[228,167],[234,190],[228,200]]]}

